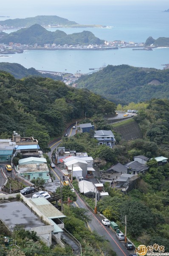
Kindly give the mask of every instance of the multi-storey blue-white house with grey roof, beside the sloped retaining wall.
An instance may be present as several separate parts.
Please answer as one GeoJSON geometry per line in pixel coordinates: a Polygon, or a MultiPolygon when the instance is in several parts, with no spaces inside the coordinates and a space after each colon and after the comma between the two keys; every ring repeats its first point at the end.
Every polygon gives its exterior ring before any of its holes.
{"type": "Polygon", "coordinates": [[[95,131],[94,138],[96,140],[98,140],[99,145],[107,145],[110,148],[113,148],[113,146],[115,145],[115,142],[116,142],[114,134],[111,130],[95,131]]]}

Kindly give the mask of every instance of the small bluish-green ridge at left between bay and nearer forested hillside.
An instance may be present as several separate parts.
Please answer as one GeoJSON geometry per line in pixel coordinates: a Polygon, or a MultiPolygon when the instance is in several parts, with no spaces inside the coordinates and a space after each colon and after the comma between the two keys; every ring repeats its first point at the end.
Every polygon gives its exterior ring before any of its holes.
{"type": "Polygon", "coordinates": [[[61,76],[55,76],[52,74],[42,74],[35,70],[33,67],[25,68],[18,63],[9,63],[9,62],[0,62],[0,70],[6,71],[13,75],[16,79],[21,79],[23,77],[28,76],[41,76],[41,77],[48,77],[54,80],[62,80],[61,76]]]}

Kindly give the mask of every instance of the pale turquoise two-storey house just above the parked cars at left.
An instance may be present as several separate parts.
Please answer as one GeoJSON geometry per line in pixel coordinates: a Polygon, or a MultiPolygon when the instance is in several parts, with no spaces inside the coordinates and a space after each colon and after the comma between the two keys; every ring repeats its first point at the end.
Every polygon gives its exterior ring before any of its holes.
{"type": "Polygon", "coordinates": [[[16,168],[18,176],[24,177],[26,180],[43,178],[45,182],[50,180],[49,169],[45,158],[27,157],[20,159],[16,168]]]}

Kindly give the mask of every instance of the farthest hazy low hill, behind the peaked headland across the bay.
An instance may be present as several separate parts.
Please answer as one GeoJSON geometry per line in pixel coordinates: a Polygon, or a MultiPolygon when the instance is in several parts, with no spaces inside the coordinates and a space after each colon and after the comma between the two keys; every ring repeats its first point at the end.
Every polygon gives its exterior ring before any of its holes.
{"type": "Polygon", "coordinates": [[[28,17],[25,19],[8,19],[8,20],[0,20],[1,26],[14,26],[17,27],[30,27],[34,24],[39,24],[41,26],[48,25],[59,25],[59,26],[71,26],[76,25],[75,21],[70,21],[65,18],[61,18],[56,15],[39,15],[36,17],[28,17]]]}

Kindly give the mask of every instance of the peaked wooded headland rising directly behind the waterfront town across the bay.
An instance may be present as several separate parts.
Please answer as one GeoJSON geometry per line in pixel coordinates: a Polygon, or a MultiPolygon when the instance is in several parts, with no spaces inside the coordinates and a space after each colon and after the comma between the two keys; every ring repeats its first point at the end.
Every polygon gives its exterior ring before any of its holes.
{"type": "Polygon", "coordinates": [[[27,45],[38,44],[42,47],[44,47],[44,44],[104,44],[104,40],[95,37],[90,31],[67,35],[61,30],[48,31],[38,24],[19,29],[10,34],[3,33],[0,35],[0,43],[9,44],[10,42],[27,45]]]}

